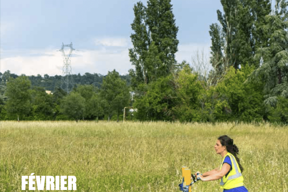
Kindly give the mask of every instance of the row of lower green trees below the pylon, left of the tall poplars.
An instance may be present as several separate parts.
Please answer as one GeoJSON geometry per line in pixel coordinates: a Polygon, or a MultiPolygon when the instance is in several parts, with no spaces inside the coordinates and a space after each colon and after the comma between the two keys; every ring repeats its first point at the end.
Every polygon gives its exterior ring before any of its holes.
{"type": "Polygon", "coordinates": [[[119,120],[131,102],[129,86],[115,70],[103,76],[100,88],[93,83],[75,84],[69,93],[60,87],[47,93],[45,87],[32,86],[25,75],[2,80],[1,120],[119,120]]]}

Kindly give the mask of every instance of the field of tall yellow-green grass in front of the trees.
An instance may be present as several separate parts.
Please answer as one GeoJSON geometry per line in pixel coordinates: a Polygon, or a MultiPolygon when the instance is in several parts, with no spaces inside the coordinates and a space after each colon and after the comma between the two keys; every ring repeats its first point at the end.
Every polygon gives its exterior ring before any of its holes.
{"type": "MultiPolygon", "coordinates": [[[[0,122],[0,191],[22,191],[21,176],[35,173],[76,176],[83,192],[177,192],[182,166],[219,167],[213,147],[223,134],[239,148],[249,192],[288,191],[288,127],[100,121],[0,122]]],[[[199,181],[192,191],[221,190],[199,181]]]]}

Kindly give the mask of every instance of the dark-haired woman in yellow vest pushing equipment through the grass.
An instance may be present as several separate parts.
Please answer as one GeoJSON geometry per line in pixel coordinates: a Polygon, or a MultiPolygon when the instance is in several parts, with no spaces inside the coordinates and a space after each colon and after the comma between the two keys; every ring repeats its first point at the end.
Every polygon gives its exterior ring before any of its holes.
{"type": "MultiPolygon", "coordinates": [[[[212,171],[200,174],[202,181],[213,181],[220,179],[220,187],[224,189],[223,192],[248,192],[243,184],[242,171],[243,167],[240,164],[237,154],[238,147],[233,144],[233,139],[227,135],[218,137],[214,146],[217,154],[223,158],[220,169],[216,168],[212,171]]],[[[197,172],[198,174],[200,172],[197,172]]]]}

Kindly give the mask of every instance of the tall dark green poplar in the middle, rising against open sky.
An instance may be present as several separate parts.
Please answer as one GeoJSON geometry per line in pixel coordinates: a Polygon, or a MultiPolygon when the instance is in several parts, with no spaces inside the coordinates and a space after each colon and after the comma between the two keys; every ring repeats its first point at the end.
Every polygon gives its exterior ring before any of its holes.
{"type": "Polygon", "coordinates": [[[171,0],[148,0],[147,7],[142,2],[134,5],[135,18],[131,24],[131,41],[129,49],[132,65],[129,70],[132,86],[147,85],[161,76],[170,74],[176,64],[178,27],[175,25],[171,0]]]}

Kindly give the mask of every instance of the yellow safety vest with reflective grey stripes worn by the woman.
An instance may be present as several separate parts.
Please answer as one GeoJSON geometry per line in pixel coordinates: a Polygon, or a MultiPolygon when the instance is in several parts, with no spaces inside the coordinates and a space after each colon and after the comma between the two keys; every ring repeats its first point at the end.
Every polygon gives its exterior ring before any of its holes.
{"type": "Polygon", "coordinates": [[[227,175],[227,177],[224,175],[221,179],[220,179],[220,188],[221,189],[232,189],[235,187],[240,187],[243,186],[243,176],[241,174],[241,170],[239,168],[239,165],[235,159],[235,157],[231,154],[231,153],[227,153],[223,160],[222,163],[220,165],[220,170],[222,168],[224,159],[226,156],[229,156],[231,159],[231,163],[232,163],[232,170],[229,172],[229,174],[227,175]]]}

